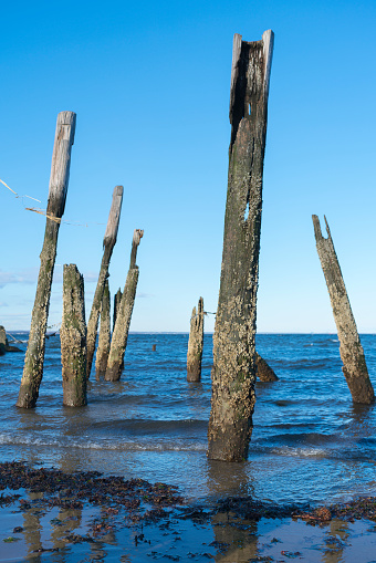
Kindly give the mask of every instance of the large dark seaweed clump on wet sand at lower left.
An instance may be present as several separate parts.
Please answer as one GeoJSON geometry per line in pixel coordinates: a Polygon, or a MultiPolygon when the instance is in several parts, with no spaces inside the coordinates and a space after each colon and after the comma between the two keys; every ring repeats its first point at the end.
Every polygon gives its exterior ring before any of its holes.
{"type": "MultiPolygon", "coordinates": [[[[98,471],[66,473],[55,468],[35,469],[23,461],[0,463],[0,490],[6,488],[43,493],[43,498],[35,501],[21,500],[24,509],[32,502],[45,508],[82,509],[84,502],[88,502],[112,514],[125,509],[130,522],[155,521],[166,515],[164,508],[184,502],[177,494],[177,487],[161,482],[152,484],[143,479],[102,477],[98,471]]],[[[17,497],[13,496],[13,500],[17,497]]],[[[3,497],[2,503],[10,500],[10,497],[3,497]]]]}

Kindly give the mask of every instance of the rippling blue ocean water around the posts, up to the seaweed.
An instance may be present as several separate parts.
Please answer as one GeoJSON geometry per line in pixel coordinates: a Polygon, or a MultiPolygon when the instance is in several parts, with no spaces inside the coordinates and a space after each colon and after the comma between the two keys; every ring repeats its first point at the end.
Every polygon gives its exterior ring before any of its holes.
{"type": "MultiPolygon", "coordinates": [[[[27,347],[27,333],[14,333],[27,347]]],[[[376,335],[363,335],[376,386],[376,335]]],[[[279,376],[257,384],[249,458],[207,459],[212,336],[202,379],[186,380],[188,334],[130,333],[121,382],[88,385],[88,405],[62,406],[59,335],[46,341],[35,409],[17,408],[23,354],[0,357],[0,461],[98,470],[177,484],[212,502],[252,494],[274,502],[334,502],[376,494],[376,406],[354,405],[333,334],[259,334],[279,376]],[[156,352],[152,351],[156,344],[156,352]]]]}

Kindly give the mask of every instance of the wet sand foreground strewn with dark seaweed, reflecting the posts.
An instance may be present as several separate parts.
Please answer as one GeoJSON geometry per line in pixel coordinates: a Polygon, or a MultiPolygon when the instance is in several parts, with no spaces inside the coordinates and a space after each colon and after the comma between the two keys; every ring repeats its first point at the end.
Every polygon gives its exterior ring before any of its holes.
{"type": "Polygon", "coordinates": [[[375,498],[189,505],[165,483],[23,462],[0,463],[0,561],[376,562],[375,498]]]}

